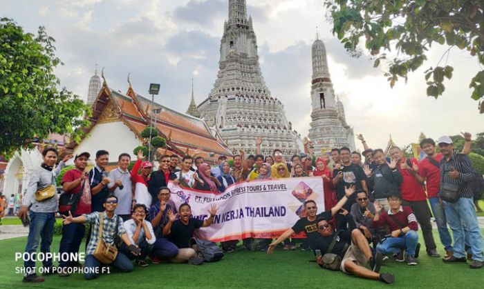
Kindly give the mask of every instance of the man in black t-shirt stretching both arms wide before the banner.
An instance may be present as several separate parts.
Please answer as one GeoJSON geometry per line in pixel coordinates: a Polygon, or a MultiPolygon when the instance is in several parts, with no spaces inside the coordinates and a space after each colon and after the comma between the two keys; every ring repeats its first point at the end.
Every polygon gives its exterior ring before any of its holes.
{"type": "Polygon", "coordinates": [[[306,217],[299,219],[292,228],[286,230],[286,232],[283,232],[282,235],[277,238],[276,241],[273,241],[270,243],[269,248],[267,250],[268,254],[271,254],[274,248],[276,248],[277,244],[281,243],[285,239],[288,239],[290,235],[294,233],[299,233],[304,231],[306,233],[306,238],[308,238],[308,245],[310,248],[313,248],[313,241],[315,237],[317,237],[317,226],[316,226],[316,220],[318,218],[324,217],[331,219],[333,215],[335,215],[343,206],[344,203],[348,200],[348,198],[353,195],[353,192],[355,192],[355,187],[351,186],[348,188],[345,188],[345,195],[342,197],[341,200],[331,208],[331,210],[328,210],[326,212],[322,212],[319,215],[316,215],[317,212],[317,206],[316,202],[314,200],[308,200],[304,202],[304,210],[306,210],[306,217]]]}

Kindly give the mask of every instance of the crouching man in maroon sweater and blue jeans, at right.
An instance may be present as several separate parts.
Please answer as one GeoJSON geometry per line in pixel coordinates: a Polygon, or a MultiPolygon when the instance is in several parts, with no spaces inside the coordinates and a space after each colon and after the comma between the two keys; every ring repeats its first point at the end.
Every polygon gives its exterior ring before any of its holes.
{"type": "MultiPolygon", "coordinates": [[[[413,211],[408,206],[402,206],[400,192],[392,191],[389,193],[388,202],[390,210],[382,211],[382,205],[375,203],[375,216],[373,216],[373,228],[387,225],[390,230],[390,237],[382,243],[378,243],[376,250],[383,255],[397,254],[405,250],[408,265],[417,265],[416,258],[420,251],[418,243],[418,224],[413,211]]],[[[397,257],[396,261],[403,262],[403,255],[397,257]]]]}

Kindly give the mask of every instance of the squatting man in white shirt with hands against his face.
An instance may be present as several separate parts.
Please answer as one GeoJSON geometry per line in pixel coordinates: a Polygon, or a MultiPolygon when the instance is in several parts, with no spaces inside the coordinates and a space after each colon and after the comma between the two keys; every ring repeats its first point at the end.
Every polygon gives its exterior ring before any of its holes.
{"type": "MultiPolygon", "coordinates": [[[[135,244],[140,248],[141,253],[138,256],[133,256],[131,254],[125,254],[129,259],[135,259],[135,263],[138,266],[146,267],[149,264],[145,261],[145,258],[153,249],[153,243],[156,241],[155,233],[153,232],[153,227],[149,221],[145,220],[147,215],[147,208],[145,205],[138,203],[134,206],[133,212],[131,213],[131,219],[123,223],[124,230],[126,230],[131,243],[135,244]]],[[[130,250],[126,244],[122,243],[120,247],[121,252],[129,253],[130,250]]]]}

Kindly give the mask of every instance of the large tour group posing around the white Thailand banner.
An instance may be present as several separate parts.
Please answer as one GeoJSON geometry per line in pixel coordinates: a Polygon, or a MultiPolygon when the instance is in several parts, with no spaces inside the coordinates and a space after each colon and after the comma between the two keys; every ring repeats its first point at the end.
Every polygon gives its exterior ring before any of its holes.
{"type": "MultiPolygon", "coordinates": [[[[210,226],[217,208],[212,206],[210,217],[194,219],[188,203],[175,208],[170,200],[169,181],[183,188],[194,188],[214,193],[224,192],[233,183],[255,179],[282,179],[290,177],[321,177],[324,185],[324,212],[317,214],[315,201],[304,203],[303,216],[292,228],[278,239],[267,243],[271,253],[279,243],[285,250],[294,250],[293,233],[305,232],[302,248],[315,253],[316,261],[325,267],[327,253],[341,257],[340,270],[357,277],[380,279],[393,283],[390,273],[380,273],[382,261],[394,255],[396,261],[407,261],[416,265],[420,243],[418,223],[422,228],[425,249],[430,257],[440,257],[431,231],[431,211],[436,218],[440,241],[445,246],[445,263],[472,260],[470,268],[483,266],[483,243],[474,210],[473,192],[470,183],[476,178],[467,154],[470,150],[470,134],[465,134],[466,144],[462,153],[454,151],[452,139],[440,137],[437,143],[424,139],[420,143],[427,154],[420,162],[404,157],[398,147],[391,148],[391,159],[383,150],[372,150],[360,134],[364,152],[351,152],[349,148],[334,148],[331,152],[316,157],[311,141],[304,139],[304,153],[294,155],[286,161],[281,150],[272,155],[261,155],[260,138],[256,139],[256,155],[245,156],[243,150],[234,155],[232,162],[227,157],[218,157],[216,166],[210,166],[203,157],[176,155],[159,157],[158,170],[144,161],[142,151],[131,171],[131,157],[123,153],[118,157],[118,168],[106,172],[109,152],[99,150],[95,154],[95,166],[86,170],[89,152],[75,157],[66,156],[57,162],[58,152],[46,148],[42,155],[44,162],[30,181],[19,217],[30,217],[30,231],[26,252],[37,251],[39,241],[41,252],[50,252],[53,239],[55,213],[62,212],[64,225],[59,252],[77,253],[84,237],[85,223],[91,224],[86,237],[86,261],[84,267],[97,268],[102,263],[94,252],[99,236],[104,242],[115,244],[119,251],[111,266],[123,272],[138,266],[148,266],[163,260],[172,262],[203,262],[191,248],[190,239],[196,229],[210,226]],[[436,146],[440,152],[436,152],[436,146]],[[362,162],[364,156],[365,161],[362,162]],[[63,194],[73,196],[68,210],[57,197],[44,201],[35,199],[40,188],[55,185],[55,175],[74,158],[75,168],[62,177],[63,194]],[[439,194],[447,183],[458,186],[457,201],[445,201],[439,194]],[[447,223],[454,235],[450,237],[447,223]],[[102,228],[102,229],[101,229],[102,228]],[[102,230],[102,234],[100,234],[102,230]],[[369,268],[366,264],[369,263],[369,268]]],[[[246,242],[247,241],[247,242],[246,242]]],[[[249,240],[251,241],[251,240],[249,240]]],[[[221,243],[225,252],[232,252],[238,240],[221,243]]],[[[246,248],[250,248],[244,240],[246,248]]],[[[53,268],[49,259],[44,268],[53,268]]],[[[35,262],[26,261],[26,268],[35,267],[35,262]]],[[[59,262],[59,268],[82,266],[78,262],[59,262]]],[[[53,274],[55,270],[44,270],[53,274]]],[[[68,270],[57,270],[62,277],[68,270]]],[[[86,279],[98,274],[85,273],[86,279]]],[[[24,281],[39,282],[44,278],[31,271],[26,272],[24,281]]]]}

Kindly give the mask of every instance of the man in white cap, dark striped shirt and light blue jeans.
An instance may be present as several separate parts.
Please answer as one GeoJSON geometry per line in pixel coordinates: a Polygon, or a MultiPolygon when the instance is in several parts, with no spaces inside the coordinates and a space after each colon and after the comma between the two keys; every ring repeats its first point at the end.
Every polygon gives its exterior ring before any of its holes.
{"type": "Polygon", "coordinates": [[[444,156],[440,160],[440,192],[458,187],[459,199],[455,202],[443,200],[445,216],[454,235],[454,255],[444,259],[445,263],[465,262],[465,243],[472,251],[470,268],[484,266],[483,237],[474,210],[471,181],[475,172],[467,155],[458,154],[450,137],[440,137],[437,141],[444,156]],[[445,186],[445,188],[444,188],[445,186]],[[464,232],[465,228],[465,232],[464,232]],[[467,237],[467,239],[466,239],[467,237]]]}

